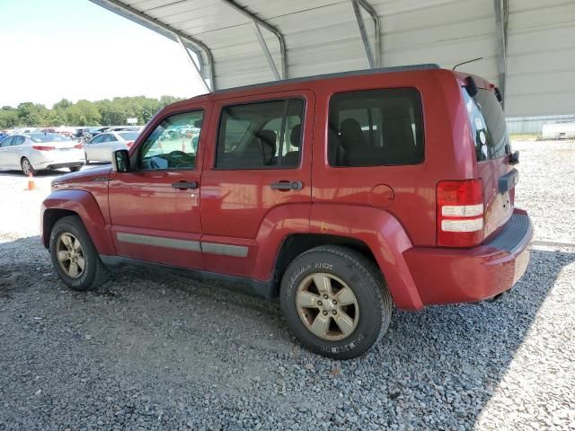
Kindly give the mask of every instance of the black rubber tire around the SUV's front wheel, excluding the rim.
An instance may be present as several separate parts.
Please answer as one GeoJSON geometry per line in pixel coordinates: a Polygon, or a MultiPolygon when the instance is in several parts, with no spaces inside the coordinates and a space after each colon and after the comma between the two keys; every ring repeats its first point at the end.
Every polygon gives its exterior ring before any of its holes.
{"type": "Polygon", "coordinates": [[[92,239],[79,216],[62,217],[54,224],[50,232],[49,251],[54,269],[66,286],[74,290],[86,291],[102,286],[106,282],[108,271],[103,266],[100,255],[93,246],[92,239]],[[82,246],[85,264],[82,274],[77,278],[66,274],[57,259],[57,242],[64,233],[74,235],[82,246]]]}

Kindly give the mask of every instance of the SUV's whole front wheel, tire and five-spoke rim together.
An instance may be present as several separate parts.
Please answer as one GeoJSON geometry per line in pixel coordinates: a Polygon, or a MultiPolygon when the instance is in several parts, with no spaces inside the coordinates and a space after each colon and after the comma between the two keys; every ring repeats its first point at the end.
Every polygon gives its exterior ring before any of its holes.
{"type": "Polygon", "coordinates": [[[106,268],[80,217],[66,216],[54,224],[49,251],[54,269],[66,286],[85,291],[106,281],[106,268]]]}

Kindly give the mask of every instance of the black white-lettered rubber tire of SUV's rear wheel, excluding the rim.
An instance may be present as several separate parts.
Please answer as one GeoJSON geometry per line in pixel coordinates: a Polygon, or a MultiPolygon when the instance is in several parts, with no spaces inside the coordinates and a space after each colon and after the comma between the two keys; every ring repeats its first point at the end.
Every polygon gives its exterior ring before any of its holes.
{"type": "Polygon", "coordinates": [[[366,353],[383,337],[391,321],[393,300],[383,275],[372,261],[347,247],[321,246],[305,251],[289,264],[281,281],[280,306],[288,327],[305,347],[322,356],[351,359],[366,353]],[[357,299],[357,326],[344,339],[318,337],[298,313],[298,286],[318,273],[339,278],[357,299]]]}

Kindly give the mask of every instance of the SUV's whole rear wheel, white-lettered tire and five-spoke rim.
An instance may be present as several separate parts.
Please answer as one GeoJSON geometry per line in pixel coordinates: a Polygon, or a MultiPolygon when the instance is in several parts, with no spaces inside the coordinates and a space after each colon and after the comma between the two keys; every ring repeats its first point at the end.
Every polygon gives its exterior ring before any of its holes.
{"type": "Polygon", "coordinates": [[[341,246],[316,247],[294,259],[282,278],[280,304],[305,347],[335,359],[373,347],[387,331],[393,309],[381,272],[341,246]]]}

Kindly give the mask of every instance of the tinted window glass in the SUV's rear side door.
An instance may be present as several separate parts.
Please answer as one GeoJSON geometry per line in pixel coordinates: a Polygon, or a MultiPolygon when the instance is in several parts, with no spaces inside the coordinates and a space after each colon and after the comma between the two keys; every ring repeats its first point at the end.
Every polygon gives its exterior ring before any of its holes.
{"type": "Polygon", "coordinates": [[[304,101],[227,106],[217,136],[216,167],[294,168],[299,164],[304,101]]]}

